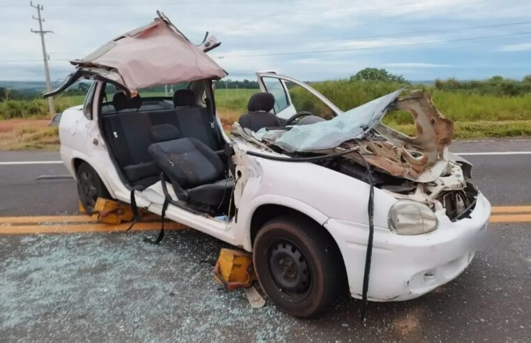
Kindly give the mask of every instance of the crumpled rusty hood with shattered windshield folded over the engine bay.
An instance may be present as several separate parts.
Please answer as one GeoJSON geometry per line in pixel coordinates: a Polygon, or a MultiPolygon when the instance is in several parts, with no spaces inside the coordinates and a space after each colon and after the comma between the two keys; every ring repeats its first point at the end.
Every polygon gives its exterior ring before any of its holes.
{"type": "Polygon", "coordinates": [[[454,123],[437,110],[428,93],[412,91],[398,98],[402,91],[367,102],[329,121],[296,125],[290,130],[262,129],[252,135],[292,155],[353,150],[356,152],[344,158],[358,165],[364,165],[365,159],[391,176],[421,183],[435,181],[449,174],[449,162],[457,160],[447,148],[454,123]],[[410,112],[417,135],[410,137],[384,125],[382,118],[391,109],[410,112]]]}

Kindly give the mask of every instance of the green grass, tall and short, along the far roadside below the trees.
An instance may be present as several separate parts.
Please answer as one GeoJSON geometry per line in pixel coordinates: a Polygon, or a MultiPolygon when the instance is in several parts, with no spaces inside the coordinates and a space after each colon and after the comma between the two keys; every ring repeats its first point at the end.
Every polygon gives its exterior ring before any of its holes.
{"type": "MultiPolygon", "coordinates": [[[[389,82],[350,82],[347,79],[314,82],[311,85],[343,110],[351,109],[403,86],[389,82]]],[[[431,93],[433,102],[440,112],[454,121],[454,139],[531,136],[531,93],[519,96],[495,96],[441,90],[435,87],[425,87],[425,90],[431,93]]],[[[216,89],[216,109],[225,130],[246,112],[248,99],[258,91],[258,89],[216,89]]],[[[294,103],[304,107],[315,106],[316,112],[322,113],[320,105],[312,104],[303,93],[299,94],[302,91],[304,90],[290,89],[294,103]]],[[[164,96],[164,93],[151,92],[142,95],[164,96]]],[[[67,107],[81,105],[84,96],[59,96],[54,101],[56,112],[60,112],[67,107]]],[[[17,118],[49,119],[47,100],[0,102],[0,119],[17,118]]],[[[415,132],[412,116],[407,112],[390,112],[385,117],[384,123],[410,135],[415,132]]],[[[53,135],[53,131],[46,134],[53,135]]],[[[34,139],[33,134],[24,132],[24,137],[26,137],[24,142],[27,143],[15,145],[38,146],[38,135],[34,139]]]]}

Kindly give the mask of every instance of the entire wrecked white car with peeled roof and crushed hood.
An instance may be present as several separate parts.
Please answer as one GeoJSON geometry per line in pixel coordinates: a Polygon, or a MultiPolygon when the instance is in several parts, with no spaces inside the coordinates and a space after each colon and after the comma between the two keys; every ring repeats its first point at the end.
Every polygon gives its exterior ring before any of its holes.
{"type": "Polygon", "coordinates": [[[343,113],[307,84],[259,73],[262,92],[227,137],[213,87],[226,73],[205,54],[216,45],[193,45],[160,15],[73,61],[48,96],[94,80],[59,127],[87,212],[111,197],[253,252],[263,291],[299,317],[346,285],[354,298],[407,300],[470,264],[491,206],[448,151],[453,125],[428,94],[396,91],[343,113]],[[298,110],[287,83],[332,119],[298,110]],[[165,84],[181,86],[143,91],[165,84]],[[416,137],[382,123],[390,109],[411,112],[416,137]]]}

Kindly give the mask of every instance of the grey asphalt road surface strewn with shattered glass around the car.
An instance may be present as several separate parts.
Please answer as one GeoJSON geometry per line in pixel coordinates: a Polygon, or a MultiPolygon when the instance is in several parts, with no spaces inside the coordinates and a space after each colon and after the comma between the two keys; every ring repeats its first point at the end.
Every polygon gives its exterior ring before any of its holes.
{"type": "MultiPolygon", "coordinates": [[[[458,142],[458,153],[531,151],[531,140],[458,142]]],[[[531,155],[466,155],[474,182],[496,206],[531,204],[531,155]]],[[[73,180],[57,153],[0,153],[0,216],[77,213],[73,180]]],[[[1,224],[0,224],[1,225],[1,224]]],[[[220,247],[193,230],[160,246],[146,232],[0,236],[2,342],[529,342],[531,225],[491,224],[497,237],[453,282],[416,300],[371,303],[343,296],[322,318],[299,320],[211,277],[220,247]]]]}

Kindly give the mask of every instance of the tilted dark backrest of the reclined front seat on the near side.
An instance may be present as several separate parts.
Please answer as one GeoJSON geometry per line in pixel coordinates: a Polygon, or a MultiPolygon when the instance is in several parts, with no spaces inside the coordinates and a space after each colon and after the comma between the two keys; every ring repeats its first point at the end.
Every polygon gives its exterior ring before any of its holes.
{"type": "Polygon", "coordinates": [[[166,176],[185,190],[224,177],[219,156],[195,138],[154,143],[149,146],[149,153],[166,176]]]}

